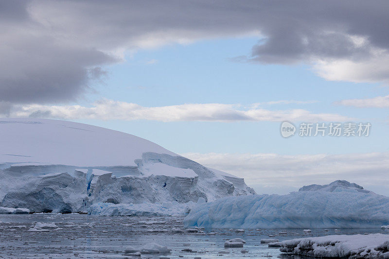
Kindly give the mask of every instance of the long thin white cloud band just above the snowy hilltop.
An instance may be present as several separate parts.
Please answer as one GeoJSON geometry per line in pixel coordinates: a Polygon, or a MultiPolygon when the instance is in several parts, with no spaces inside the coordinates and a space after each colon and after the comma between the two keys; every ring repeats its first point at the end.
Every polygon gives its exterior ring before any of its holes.
{"type": "MultiPolygon", "coordinates": [[[[1,112],[1,110],[0,110],[1,112]]],[[[180,104],[144,107],[139,104],[103,99],[91,107],[81,105],[17,104],[7,106],[4,116],[65,120],[152,120],[152,121],[350,121],[331,113],[311,113],[303,109],[241,109],[238,104],[180,104]]]]}

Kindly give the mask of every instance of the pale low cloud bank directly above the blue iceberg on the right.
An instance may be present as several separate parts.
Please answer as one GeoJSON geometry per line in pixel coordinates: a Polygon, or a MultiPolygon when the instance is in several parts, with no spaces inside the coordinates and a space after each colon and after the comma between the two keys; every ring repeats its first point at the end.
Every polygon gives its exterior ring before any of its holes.
{"type": "MultiPolygon", "coordinates": [[[[256,191],[276,190],[285,193],[302,185],[328,184],[344,179],[377,190],[389,184],[389,153],[345,155],[278,155],[278,154],[181,154],[205,166],[244,177],[256,191]],[[377,182],[379,179],[379,182],[377,182]],[[380,186],[380,187],[377,187],[380,186]]],[[[373,190],[374,191],[374,190],[373,190]]]]}

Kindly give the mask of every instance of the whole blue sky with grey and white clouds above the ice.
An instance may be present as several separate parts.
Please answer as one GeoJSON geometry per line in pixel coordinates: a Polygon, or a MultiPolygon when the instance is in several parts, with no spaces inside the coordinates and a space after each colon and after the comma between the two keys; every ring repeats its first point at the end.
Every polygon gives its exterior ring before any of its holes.
{"type": "Polygon", "coordinates": [[[344,179],[389,195],[388,10],[384,0],[0,1],[0,117],[123,131],[258,193],[344,179]],[[368,136],[328,135],[348,122],[370,123],[368,136]],[[301,123],[325,123],[325,136],[299,136],[301,123]]]}

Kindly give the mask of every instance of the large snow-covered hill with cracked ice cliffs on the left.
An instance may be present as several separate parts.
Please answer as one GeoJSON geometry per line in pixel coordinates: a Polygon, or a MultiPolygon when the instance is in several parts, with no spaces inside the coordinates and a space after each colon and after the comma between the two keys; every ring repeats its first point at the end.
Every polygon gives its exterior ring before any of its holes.
{"type": "Polygon", "coordinates": [[[255,193],[244,180],[143,138],[43,119],[0,119],[0,206],[86,212],[98,202],[197,202],[255,193]]]}

